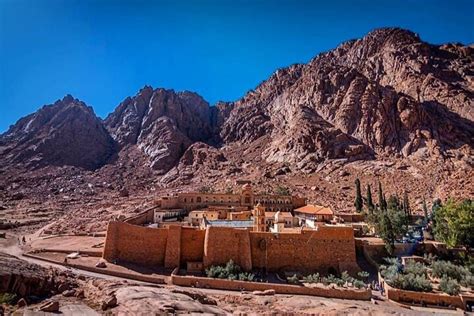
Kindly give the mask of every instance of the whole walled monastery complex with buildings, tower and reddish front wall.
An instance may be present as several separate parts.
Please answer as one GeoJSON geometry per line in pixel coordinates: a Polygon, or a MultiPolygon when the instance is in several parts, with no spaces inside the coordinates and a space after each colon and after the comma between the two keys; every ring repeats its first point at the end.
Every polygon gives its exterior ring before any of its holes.
{"type": "Polygon", "coordinates": [[[188,272],[234,260],[245,270],[356,272],[354,231],[290,195],[179,193],[109,223],[103,257],[188,272]]]}

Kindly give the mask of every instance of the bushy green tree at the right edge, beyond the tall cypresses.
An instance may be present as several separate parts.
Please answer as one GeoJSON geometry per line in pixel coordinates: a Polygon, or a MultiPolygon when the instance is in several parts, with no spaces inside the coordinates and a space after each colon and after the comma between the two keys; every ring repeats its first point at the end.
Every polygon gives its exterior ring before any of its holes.
{"type": "Polygon", "coordinates": [[[474,201],[448,202],[434,212],[434,235],[448,246],[474,247],[474,201]]]}

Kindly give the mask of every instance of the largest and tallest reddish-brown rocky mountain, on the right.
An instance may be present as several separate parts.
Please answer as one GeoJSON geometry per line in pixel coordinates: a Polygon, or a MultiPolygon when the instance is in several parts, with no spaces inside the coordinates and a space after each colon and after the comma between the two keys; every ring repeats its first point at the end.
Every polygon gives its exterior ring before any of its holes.
{"type": "MultiPolygon", "coordinates": [[[[280,69],[235,102],[226,143],[268,136],[267,161],[439,158],[474,146],[473,49],[380,29],[280,69]]],[[[471,152],[471,151],[469,151],[471,152]]]]}

